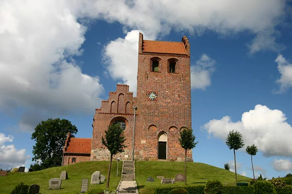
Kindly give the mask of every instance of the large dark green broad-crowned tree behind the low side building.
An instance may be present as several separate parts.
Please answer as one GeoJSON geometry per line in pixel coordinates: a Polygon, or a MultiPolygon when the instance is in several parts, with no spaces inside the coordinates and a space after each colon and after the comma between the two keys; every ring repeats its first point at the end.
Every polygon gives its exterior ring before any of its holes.
{"type": "Polygon", "coordinates": [[[41,160],[43,168],[60,166],[62,164],[63,146],[68,132],[77,133],[78,129],[66,119],[49,118],[42,121],[35,128],[32,139],[36,141],[33,146],[32,161],[41,160]]]}

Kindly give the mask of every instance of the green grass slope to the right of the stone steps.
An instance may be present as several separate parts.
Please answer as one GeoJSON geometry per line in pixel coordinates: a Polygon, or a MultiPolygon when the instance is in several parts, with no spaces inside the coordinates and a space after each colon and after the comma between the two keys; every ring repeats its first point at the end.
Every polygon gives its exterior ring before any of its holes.
{"type": "MultiPolygon", "coordinates": [[[[187,186],[204,185],[207,179],[218,179],[223,184],[236,186],[235,174],[215,166],[198,162],[187,162],[187,186]]],[[[184,162],[135,162],[136,181],[138,183],[139,194],[153,194],[155,187],[181,187],[184,182],[175,184],[161,184],[161,179],[175,178],[177,173],[184,174],[184,162]],[[153,177],[155,182],[146,182],[148,177],[153,177]]],[[[241,182],[249,181],[249,178],[237,175],[237,180],[241,182]]]]}

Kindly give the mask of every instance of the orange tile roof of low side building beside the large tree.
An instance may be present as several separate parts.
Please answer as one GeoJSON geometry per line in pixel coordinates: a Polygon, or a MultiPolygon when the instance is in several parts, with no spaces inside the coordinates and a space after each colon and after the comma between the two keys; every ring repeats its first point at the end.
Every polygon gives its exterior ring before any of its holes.
{"type": "Polygon", "coordinates": [[[91,138],[72,137],[70,139],[69,146],[67,146],[65,153],[90,154],[91,153],[91,138]]]}

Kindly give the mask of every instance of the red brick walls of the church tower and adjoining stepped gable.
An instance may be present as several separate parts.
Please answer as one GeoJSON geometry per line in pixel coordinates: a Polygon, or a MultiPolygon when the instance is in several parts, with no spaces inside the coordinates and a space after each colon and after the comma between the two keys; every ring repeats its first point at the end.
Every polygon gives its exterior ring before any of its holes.
{"type": "MultiPolygon", "coordinates": [[[[124,134],[127,148],[114,159],[132,159],[133,105],[137,107],[134,159],[158,160],[158,138],[162,133],[167,135],[167,160],[183,159],[184,150],[178,141],[179,131],[185,127],[191,128],[190,45],[186,36],[183,37],[183,44],[187,54],[143,52],[143,34],[140,33],[137,97],[129,92],[128,85],[118,84],[117,90],[110,92],[109,99],[102,101],[101,108],[95,110],[91,161],[110,159],[101,137],[105,135],[107,127],[117,120],[126,123],[124,134]],[[153,58],[159,60],[158,72],[151,71],[153,58]],[[171,59],[177,61],[175,73],[168,72],[171,59]],[[149,91],[157,93],[157,100],[148,99],[149,91]]],[[[192,158],[191,150],[187,152],[187,157],[192,158]]]]}

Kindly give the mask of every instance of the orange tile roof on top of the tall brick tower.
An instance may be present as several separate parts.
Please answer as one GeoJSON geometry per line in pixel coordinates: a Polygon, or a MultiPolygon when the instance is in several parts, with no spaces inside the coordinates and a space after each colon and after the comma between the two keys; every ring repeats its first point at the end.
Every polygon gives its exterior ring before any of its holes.
{"type": "Polygon", "coordinates": [[[144,40],[142,52],[187,55],[183,42],[144,40]]]}

